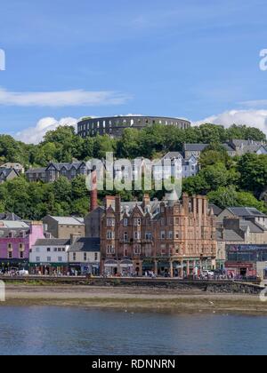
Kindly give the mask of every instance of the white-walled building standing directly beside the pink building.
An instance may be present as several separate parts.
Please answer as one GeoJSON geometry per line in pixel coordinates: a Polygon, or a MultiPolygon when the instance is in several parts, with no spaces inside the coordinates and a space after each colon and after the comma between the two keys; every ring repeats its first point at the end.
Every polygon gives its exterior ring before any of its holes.
{"type": "Polygon", "coordinates": [[[31,274],[67,274],[70,240],[37,240],[29,252],[31,274]]]}

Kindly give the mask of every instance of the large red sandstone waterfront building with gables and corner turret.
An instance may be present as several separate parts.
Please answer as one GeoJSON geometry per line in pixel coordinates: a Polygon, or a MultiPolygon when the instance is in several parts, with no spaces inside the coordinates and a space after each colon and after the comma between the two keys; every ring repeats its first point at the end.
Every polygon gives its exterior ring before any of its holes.
{"type": "Polygon", "coordinates": [[[166,195],[159,202],[107,197],[101,219],[101,273],[171,277],[214,269],[215,219],[206,197],[166,195]]]}

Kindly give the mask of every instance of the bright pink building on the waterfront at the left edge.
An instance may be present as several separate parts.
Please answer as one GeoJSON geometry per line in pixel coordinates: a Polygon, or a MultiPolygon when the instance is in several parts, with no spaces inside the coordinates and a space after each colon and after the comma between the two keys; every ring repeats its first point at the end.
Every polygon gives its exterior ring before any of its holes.
{"type": "Polygon", "coordinates": [[[0,221],[0,272],[27,269],[29,250],[42,238],[42,222],[0,221]]]}

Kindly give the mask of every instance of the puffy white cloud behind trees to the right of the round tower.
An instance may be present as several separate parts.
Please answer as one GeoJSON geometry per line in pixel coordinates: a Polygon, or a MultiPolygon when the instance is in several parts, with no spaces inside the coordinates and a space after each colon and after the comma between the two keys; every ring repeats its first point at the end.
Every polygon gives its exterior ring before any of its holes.
{"type": "Polygon", "coordinates": [[[193,124],[200,125],[203,123],[223,124],[225,127],[230,127],[233,123],[246,124],[267,134],[267,110],[231,110],[219,115],[209,116],[193,124]]]}

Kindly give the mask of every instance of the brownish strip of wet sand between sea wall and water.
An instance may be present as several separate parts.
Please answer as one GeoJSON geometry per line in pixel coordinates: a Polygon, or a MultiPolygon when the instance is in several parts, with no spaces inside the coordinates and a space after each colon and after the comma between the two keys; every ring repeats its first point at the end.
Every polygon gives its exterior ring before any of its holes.
{"type": "Polygon", "coordinates": [[[7,285],[1,306],[79,306],[142,312],[247,313],[267,315],[258,296],[214,294],[200,290],[103,288],[88,286],[7,285]]]}

